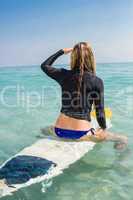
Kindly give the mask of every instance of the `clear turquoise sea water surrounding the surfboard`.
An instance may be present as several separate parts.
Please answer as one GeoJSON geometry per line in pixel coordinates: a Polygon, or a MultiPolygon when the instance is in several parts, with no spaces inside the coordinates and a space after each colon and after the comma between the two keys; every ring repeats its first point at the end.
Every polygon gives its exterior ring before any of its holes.
{"type": "MultiPolygon", "coordinates": [[[[113,111],[111,130],[128,136],[128,149],[97,144],[50,187],[35,184],[3,200],[133,199],[133,63],[98,64],[97,74],[105,83],[105,105],[113,111]]],[[[59,109],[60,87],[39,66],[1,67],[0,164],[35,142],[59,109]]]]}

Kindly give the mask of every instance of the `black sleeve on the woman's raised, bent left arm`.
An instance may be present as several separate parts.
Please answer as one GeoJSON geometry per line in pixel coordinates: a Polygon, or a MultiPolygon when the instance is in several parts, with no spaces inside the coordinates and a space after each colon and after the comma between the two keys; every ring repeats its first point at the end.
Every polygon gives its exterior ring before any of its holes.
{"type": "Polygon", "coordinates": [[[50,56],[49,58],[47,58],[42,64],[41,64],[41,69],[43,72],[45,72],[49,77],[51,77],[52,79],[56,80],[57,82],[61,82],[62,78],[63,78],[63,72],[65,69],[60,68],[57,69],[53,66],[51,66],[54,61],[61,55],[64,54],[63,49],[60,49],[59,51],[57,51],[55,54],[53,54],[52,56],[50,56]]]}

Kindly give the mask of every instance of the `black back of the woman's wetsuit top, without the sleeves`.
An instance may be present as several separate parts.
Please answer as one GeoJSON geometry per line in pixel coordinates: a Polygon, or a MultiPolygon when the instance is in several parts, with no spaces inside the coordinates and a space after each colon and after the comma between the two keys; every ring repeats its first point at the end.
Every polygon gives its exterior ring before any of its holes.
{"type": "Polygon", "coordinates": [[[63,71],[61,74],[62,81],[60,82],[62,88],[61,112],[68,116],[90,121],[89,113],[95,96],[97,94],[98,96],[96,97],[100,98],[101,95],[99,91],[102,91],[102,88],[100,88],[102,80],[94,74],[85,71],[82,77],[80,93],[78,93],[79,71],[63,71]]]}

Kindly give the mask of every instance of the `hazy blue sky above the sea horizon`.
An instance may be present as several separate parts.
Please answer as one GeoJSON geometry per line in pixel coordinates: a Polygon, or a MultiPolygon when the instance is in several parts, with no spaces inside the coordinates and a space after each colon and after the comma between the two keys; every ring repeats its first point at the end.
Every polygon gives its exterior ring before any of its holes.
{"type": "Polygon", "coordinates": [[[97,62],[133,61],[133,0],[0,0],[0,65],[40,64],[79,41],[97,62]]]}

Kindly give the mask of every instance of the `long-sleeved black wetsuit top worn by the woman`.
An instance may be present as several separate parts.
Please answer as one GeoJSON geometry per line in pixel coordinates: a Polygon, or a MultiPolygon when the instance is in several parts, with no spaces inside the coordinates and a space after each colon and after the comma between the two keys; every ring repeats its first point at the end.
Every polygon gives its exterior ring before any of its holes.
{"type": "Polygon", "coordinates": [[[91,121],[90,112],[92,104],[94,104],[98,124],[102,129],[105,129],[106,119],[104,112],[103,81],[93,73],[84,71],[80,95],[78,96],[77,85],[80,73],[79,67],[67,70],[64,68],[57,69],[51,66],[53,62],[63,54],[64,51],[61,49],[41,64],[41,69],[61,86],[61,113],[73,118],[91,121]]]}

